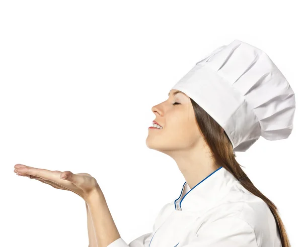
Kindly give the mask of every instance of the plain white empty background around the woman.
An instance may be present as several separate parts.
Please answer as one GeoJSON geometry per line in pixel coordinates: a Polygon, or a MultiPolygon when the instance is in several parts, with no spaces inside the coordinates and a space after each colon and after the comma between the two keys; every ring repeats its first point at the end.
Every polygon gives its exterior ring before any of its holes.
{"type": "Polygon", "coordinates": [[[88,246],[84,200],[17,176],[14,165],[87,172],[121,237],[152,231],[184,177],[145,145],[171,87],[235,39],[264,50],[296,94],[286,140],[237,152],[292,246],[301,229],[301,44],[297,1],[2,1],[1,246],[88,246]]]}

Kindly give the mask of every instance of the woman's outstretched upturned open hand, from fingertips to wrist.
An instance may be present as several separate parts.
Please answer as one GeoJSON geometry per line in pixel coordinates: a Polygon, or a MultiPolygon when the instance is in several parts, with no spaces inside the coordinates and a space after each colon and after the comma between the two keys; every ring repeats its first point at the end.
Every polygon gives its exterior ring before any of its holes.
{"type": "Polygon", "coordinates": [[[30,177],[56,189],[69,190],[81,196],[85,201],[95,191],[101,191],[97,180],[88,173],[73,174],[70,171],[50,171],[17,164],[14,166],[17,175],[30,177]]]}

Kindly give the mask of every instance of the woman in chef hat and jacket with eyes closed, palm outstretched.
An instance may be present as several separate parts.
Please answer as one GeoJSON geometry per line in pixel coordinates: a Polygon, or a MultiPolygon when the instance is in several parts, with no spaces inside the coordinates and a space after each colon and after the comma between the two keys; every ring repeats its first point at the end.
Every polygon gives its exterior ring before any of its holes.
{"type": "Polygon", "coordinates": [[[152,108],[156,119],[146,139],[148,148],[176,161],[186,182],[160,210],[153,232],[129,244],[91,175],[21,164],[15,172],[81,196],[90,247],[289,247],[276,206],[253,185],[234,151],[245,152],[260,136],[287,138],[294,110],[285,77],[254,46],[235,40],[196,63],[152,108]]]}

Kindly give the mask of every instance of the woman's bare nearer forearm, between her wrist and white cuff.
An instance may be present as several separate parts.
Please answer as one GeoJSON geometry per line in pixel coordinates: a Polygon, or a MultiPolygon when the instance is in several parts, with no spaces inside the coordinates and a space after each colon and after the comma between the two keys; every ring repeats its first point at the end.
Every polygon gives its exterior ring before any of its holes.
{"type": "Polygon", "coordinates": [[[120,238],[101,189],[86,200],[94,228],[97,247],[107,247],[120,238]]]}

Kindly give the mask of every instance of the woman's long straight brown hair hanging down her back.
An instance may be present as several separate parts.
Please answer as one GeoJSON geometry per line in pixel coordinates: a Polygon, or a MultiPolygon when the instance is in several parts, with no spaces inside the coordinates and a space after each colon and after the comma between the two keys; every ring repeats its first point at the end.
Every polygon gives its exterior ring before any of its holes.
{"type": "MultiPolygon", "coordinates": [[[[193,99],[190,98],[190,100],[201,134],[203,135],[206,144],[212,152],[214,161],[217,166],[219,164],[219,167],[224,167],[237,179],[246,177],[247,175],[241,169],[241,165],[235,159],[236,154],[233,152],[233,146],[222,127],[193,99]]],[[[266,202],[275,217],[282,247],[290,247],[285,227],[275,204],[270,201],[265,195],[263,195],[254,186],[254,184],[248,177],[240,180],[240,182],[248,191],[260,197],[264,202],[266,202]]]]}

